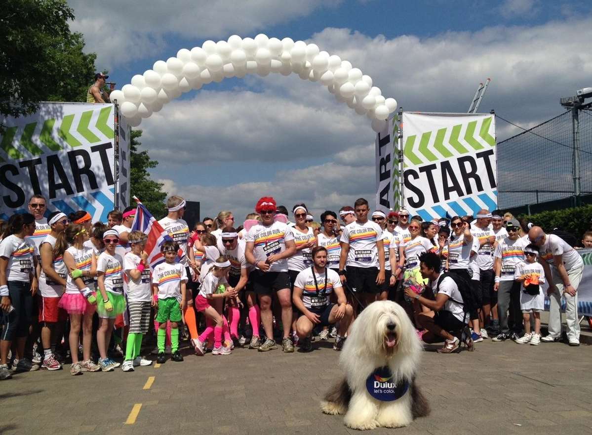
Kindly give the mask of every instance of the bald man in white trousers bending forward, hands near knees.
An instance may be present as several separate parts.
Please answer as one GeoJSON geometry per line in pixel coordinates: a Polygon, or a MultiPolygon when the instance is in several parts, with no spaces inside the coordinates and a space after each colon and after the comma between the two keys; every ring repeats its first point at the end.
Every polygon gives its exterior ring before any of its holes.
{"type": "Polygon", "coordinates": [[[540,340],[561,340],[561,298],[564,298],[567,338],[570,346],[580,346],[577,291],[584,271],[582,257],[564,239],[554,234],[545,234],[540,226],[533,226],[528,232],[528,238],[539,247],[539,261],[549,283],[549,335],[540,340]]]}

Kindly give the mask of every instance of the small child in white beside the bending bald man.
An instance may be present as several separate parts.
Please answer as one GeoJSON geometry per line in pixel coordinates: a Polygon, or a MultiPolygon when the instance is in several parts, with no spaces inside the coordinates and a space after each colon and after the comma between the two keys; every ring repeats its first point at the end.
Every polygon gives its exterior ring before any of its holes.
{"type": "Polygon", "coordinates": [[[524,248],[526,261],[517,264],[514,279],[520,286],[520,309],[524,322],[525,334],[516,340],[518,344],[530,343],[537,346],[540,343],[540,312],[545,309],[545,295],[540,286],[545,283],[545,270],[537,263],[536,256],[539,248],[530,244],[524,248]],[[535,332],[530,332],[530,312],[535,318],[535,332]]]}

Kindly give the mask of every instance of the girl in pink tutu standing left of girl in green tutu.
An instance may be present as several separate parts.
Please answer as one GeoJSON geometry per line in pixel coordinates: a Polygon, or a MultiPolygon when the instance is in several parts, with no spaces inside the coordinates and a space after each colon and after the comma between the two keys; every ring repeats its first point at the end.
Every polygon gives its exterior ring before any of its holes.
{"type": "Polygon", "coordinates": [[[92,316],[96,311],[95,281],[96,257],[92,248],[85,247],[88,240],[86,228],[70,224],[60,239],[70,245],[64,252],[66,293],[60,299],[60,308],[70,316],[70,354],[72,366],[70,375],[82,375],[83,371],[98,372],[101,369],[91,360],[92,316]],[[82,363],[78,361],[78,337],[82,327],[82,363]]]}

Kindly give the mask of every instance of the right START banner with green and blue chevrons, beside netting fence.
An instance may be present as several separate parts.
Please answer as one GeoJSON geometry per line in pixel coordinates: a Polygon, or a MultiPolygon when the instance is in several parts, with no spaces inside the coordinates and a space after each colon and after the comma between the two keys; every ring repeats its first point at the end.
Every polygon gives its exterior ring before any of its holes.
{"type": "Polygon", "coordinates": [[[403,203],[424,220],[497,207],[493,114],[403,113],[403,203]]]}

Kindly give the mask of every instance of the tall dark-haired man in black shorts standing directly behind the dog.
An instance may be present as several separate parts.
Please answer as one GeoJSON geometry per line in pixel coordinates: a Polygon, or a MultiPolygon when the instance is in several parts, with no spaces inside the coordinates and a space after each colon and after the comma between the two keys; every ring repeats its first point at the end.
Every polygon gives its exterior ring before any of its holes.
{"type": "MultiPolygon", "coordinates": [[[[357,219],[346,225],[340,239],[339,275],[368,305],[379,296],[385,279],[382,228],[368,220],[368,201],[359,198],[353,208],[357,219]]],[[[355,303],[352,305],[356,311],[355,303]]]]}

